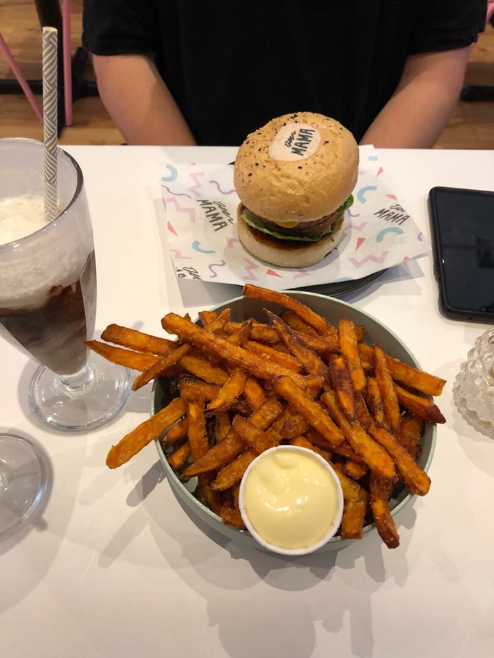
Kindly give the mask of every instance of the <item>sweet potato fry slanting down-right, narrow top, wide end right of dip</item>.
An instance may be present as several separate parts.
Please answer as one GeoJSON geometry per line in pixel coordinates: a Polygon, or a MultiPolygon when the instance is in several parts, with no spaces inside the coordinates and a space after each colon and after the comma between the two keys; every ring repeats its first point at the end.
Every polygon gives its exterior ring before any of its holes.
{"type": "Polygon", "coordinates": [[[393,479],[396,476],[395,465],[384,448],[371,438],[360,423],[350,423],[336,400],[333,391],[322,393],[321,400],[329,409],[331,416],[340,427],[346,439],[355,452],[360,454],[371,471],[385,479],[393,479]]]}

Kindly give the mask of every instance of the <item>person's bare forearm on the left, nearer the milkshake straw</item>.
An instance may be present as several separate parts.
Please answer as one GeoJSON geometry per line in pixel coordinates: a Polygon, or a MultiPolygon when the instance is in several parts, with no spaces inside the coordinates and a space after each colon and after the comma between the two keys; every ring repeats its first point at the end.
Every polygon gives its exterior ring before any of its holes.
{"type": "Polygon", "coordinates": [[[93,55],[99,96],[128,144],[196,143],[154,62],[143,55],[93,55]]]}

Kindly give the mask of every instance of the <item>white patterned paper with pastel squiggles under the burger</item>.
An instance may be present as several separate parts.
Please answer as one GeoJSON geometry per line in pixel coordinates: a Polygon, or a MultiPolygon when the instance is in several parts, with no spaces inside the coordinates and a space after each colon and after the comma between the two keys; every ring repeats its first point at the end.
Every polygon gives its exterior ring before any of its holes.
{"type": "Polygon", "coordinates": [[[178,278],[289,290],[357,280],[430,251],[372,146],[360,147],[355,200],[346,210],[340,244],[320,263],[303,269],[268,265],[242,247],[231,165],[169,162],[161,191],[178,278]]]}

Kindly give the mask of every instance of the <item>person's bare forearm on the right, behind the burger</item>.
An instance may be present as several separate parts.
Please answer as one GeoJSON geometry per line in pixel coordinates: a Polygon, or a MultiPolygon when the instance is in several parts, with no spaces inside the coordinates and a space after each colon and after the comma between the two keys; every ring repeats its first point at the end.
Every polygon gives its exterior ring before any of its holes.
{"type": "Polygon", "coordinates": [[[362,137],[379,148],[430,148],[454,112],[470,47],[408,57],[397,90],[362,137]]]}

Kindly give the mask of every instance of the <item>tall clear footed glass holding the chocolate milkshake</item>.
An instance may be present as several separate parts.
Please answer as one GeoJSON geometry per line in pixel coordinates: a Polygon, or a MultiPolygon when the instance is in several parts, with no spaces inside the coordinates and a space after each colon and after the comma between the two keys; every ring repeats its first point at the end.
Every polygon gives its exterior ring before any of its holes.
{"type": "Polygon", "coordinates": [[[0,139],[0,335],[40,363],[27,392],[36,416],[57,430],[89,430],[121,409],[130,373],[84,344],[97,286],[82,171],[58,149],[58,207],[46,222],[43,161],[43,143],[0,139]]]}

